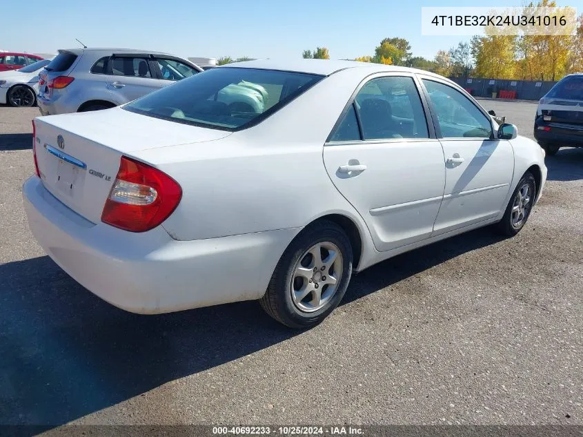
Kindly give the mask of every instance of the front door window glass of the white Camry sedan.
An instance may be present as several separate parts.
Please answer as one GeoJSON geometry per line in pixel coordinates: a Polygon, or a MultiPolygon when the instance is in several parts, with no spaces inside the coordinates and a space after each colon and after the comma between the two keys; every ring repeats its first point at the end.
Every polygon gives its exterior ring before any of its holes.
{"type": "Polygon", "coordinates": [[[490,138],[492,124],[466,96],[451,86],[422,79],[444,138],[490,138]]]}

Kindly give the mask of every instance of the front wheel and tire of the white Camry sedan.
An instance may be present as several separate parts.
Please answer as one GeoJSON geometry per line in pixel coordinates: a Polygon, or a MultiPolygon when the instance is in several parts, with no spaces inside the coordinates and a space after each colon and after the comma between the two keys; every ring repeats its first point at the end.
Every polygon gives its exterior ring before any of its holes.
{"type": "Polygon", "coordinates": [[[535,198],[535,177],[527,171],[520,178],[514,193],[512,193],[506,211],[504,211],[504,217],[497,223],[498,231],[508,237],[513,237],[519,233],[531,215],[535,198]]]}

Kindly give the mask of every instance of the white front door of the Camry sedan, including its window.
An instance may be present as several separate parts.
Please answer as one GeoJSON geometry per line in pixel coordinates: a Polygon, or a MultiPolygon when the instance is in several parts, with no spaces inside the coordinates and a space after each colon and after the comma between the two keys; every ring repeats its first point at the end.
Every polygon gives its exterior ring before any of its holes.
{"type": "Polygon", "coordinates": [[[513,148],[495,139],[491,117],[446,81],[422,77],[435,131],[444,149],[444,200],[433,235],[495,217],[505,206],[513,148]]]}

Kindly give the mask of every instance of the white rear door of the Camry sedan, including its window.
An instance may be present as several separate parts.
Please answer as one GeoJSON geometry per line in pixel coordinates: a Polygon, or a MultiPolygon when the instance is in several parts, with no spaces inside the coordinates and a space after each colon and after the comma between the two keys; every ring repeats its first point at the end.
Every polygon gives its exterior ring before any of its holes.
{"type": "Polygon", "coordinates": [[[431,235],[442,202],[442,146],[414,75],[367,79],[324,146],[326,171],[388,251],[431,235]]]}

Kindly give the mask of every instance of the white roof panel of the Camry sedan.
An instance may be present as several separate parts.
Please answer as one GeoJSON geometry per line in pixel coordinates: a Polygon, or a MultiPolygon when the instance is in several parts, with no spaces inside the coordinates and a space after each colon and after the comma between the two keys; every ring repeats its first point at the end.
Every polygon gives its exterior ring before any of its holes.
{"type": "Polygon", "coordinates": [[[255,61],[234,62],[233,64],[221,66],[221,68],[258,68],[261,70],[305,72],[324,76],[332,75],[340,70],[346,70],[346,68],[364,68],[366,69],[366,74],[373,74],[375,72],[407,71],[441,77],[435,75],[435,73],[425,70],[417,70],[416,68],[333,59],[258,59],[255,61]]]}

